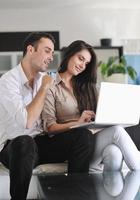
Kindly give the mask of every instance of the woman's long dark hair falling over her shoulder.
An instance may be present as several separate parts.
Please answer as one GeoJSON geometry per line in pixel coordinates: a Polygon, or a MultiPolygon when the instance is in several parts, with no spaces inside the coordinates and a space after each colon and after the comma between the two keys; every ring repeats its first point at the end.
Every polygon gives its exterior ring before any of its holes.
{"type": "Polygon", "coordinates": [[[91,61],[87,64],[86,69],[74,76],[72,79],[73,92],[78,102],[80,113],[84,110],[93,110],[96,112],[97,107],[97,58],[93,47],[84,41],[76,40],[72,42],[63,53],[63,59],[58,69],[59,73],[67,70],[70,58],[77,52],[87,49],[91,55],[91,61]]]}

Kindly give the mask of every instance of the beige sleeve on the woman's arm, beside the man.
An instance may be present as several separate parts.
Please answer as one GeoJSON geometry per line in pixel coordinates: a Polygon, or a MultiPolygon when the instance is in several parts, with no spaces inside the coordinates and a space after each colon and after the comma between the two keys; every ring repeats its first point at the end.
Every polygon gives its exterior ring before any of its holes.
{"type": "Polygon", "coordinates": [[[53,88],[49,89],[46,93],[42,119],[45,131],[47,131],[49,126],[56,123],[55,91],[53,88]]]}

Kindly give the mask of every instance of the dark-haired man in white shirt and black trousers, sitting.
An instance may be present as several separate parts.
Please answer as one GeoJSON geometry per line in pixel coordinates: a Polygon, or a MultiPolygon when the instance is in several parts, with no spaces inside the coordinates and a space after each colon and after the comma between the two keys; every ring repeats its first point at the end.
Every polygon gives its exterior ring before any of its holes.
{"type": "Polygon", "coordinates": [[[26,199],[36,165],[68,160],[69,173],[88,172],[86,134],[75,131],[62,141],[61,135],[49,138],[42,132],[41,111],[53,80],[41,72],[46,72],[53,53],[51,35],[31,33],[21,63],[0,79],[0,162],[9,168],[12,200],[26,199]]]}

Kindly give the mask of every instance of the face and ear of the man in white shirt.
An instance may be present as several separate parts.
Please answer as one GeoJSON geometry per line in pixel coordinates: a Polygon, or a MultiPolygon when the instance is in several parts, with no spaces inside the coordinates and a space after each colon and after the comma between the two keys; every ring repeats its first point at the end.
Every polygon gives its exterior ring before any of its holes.
{"type": "Polygon", "coordinates": [[[45,72],[53,61],[54,44],[49,38],[41,38],[30,51],[31,66],[36,72],[45,72]]]}

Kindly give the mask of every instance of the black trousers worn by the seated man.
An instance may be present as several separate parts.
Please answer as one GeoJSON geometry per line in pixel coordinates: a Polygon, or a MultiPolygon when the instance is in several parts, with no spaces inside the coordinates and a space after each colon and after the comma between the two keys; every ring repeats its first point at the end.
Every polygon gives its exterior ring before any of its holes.
{"type": "Polygon", "coordinates": [[[33,168],[39,164],[68,160],[68,173],[87,173],[93,152],[92,134],[87,129],[73,129],[48,137],[18,136],[7,142],[0,161],[9,168],[12,200],[25,200],[33,168]]]}

